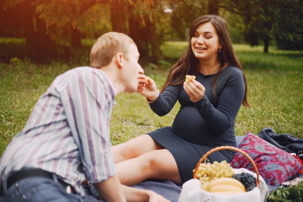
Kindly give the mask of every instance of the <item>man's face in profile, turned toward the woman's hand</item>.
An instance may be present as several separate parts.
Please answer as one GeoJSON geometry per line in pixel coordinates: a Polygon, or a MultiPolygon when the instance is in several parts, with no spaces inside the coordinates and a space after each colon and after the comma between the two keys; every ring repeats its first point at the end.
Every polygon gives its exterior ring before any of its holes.
{"type": "Polygon", "coordinates": [[[138,77],[144,73],[144,70],[139,65],[139,52],[135,45],[130,44],[129,51],[126,55],[124,71],[122,78],[125,84],[125,92],[135,92],[138,87],[138,77]]]}

